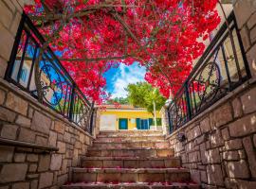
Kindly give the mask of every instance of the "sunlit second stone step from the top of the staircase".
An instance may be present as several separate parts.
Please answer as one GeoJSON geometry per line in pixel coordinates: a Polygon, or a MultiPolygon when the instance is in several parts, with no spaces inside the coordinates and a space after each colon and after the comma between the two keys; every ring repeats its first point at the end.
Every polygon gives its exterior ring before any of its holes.
{"type": "Polygon", "coordinates": [[[99,142],[125,142],[125,141],[165,141],[165,137],[163,135],[158,136],[129,136],[129,137],[122,137],[122,136],[97,136],[97,141],[99,142]]]}

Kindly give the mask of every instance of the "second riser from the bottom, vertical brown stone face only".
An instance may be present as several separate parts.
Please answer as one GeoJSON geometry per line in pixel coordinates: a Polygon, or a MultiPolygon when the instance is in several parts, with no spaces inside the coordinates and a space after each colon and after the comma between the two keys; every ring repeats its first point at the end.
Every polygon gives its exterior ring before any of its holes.
{"type": "Polygon", "coordinates": [[[174,168],[180,167],[181,161],[179,159],[172,160],[87,160],[82,161],[82,167],[85,168],[174,168]]]}

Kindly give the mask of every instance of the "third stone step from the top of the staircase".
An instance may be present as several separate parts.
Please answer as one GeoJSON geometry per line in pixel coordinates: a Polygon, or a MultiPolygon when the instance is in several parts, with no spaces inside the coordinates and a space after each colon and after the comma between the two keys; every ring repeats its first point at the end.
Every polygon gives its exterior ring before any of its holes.
{"type": "Polygon", "coordinates": [[[126,147],[151,147],[151,148],[168,148],[170,145],[168,142],[112,142],[112,143],[105,143],[96,141],[93,144],[94,148],[97,149],[119,149],[119,148],[126,148],[126,147]]]}

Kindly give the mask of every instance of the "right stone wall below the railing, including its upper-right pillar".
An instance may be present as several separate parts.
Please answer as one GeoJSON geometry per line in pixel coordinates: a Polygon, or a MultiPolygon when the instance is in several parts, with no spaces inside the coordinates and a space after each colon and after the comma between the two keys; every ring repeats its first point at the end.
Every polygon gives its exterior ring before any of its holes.
{"type": "Polygon", "coordinates": [[[167,137],[203,188],[256,188],[256,1],[236,1],[234,11],[252,77],[167,137]]]}

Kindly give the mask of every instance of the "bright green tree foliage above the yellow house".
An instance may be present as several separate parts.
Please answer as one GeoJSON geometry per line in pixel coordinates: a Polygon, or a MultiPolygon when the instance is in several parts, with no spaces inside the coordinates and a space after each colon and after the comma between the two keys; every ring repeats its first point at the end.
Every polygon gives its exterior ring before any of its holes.
{"type": "Polygon", "coordinates": [[[128,100],[129,102],[136,106],[146,108],[148,112],[154,114],[155,110],[159,111],[164,105],[166,98],[159,93],[159,90],[152,87],[146,82],[137,82],[137,84],[129,84],[127,87],[128,100]]]}

